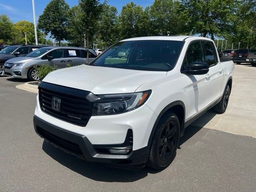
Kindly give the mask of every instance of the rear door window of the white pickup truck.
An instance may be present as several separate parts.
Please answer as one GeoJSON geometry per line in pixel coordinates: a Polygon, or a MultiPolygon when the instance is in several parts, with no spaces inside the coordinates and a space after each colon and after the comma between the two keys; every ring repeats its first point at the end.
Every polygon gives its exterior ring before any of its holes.
{"type": "Polygon", "coordinates": [[[217,57],[216,57],[216,52],[214,50],[214,46],[213,46],[212,42],[204,41],[203,47],[204,47],[206,63],[208,63],[209,66],[216,64],[217,57]]]}

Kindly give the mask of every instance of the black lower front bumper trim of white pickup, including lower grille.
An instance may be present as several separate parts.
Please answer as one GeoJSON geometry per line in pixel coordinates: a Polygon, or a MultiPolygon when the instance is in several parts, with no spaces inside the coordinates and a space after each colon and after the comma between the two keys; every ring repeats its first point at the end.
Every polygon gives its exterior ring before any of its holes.
{"type": "Polygon", "coordinates": [[[40,137],[56,148],[90,162],[140,169],[144,168],[148,160],[149,148],[147,146],[126,155],[98,154],[86,136],[52,125],[38,116],[34,116],[34,129],[40,137]]]}

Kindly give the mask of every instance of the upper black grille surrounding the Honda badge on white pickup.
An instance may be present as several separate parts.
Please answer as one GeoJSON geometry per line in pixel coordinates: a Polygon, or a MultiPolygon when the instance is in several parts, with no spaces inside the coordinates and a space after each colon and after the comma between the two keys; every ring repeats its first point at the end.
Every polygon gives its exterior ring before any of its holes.
{"type": "Polygon", "coordinates": [[[51,116],[78,126],[86,126],[92,113],[92,103],[86,99],[88,93],[90,92],[42,82],[39,86],[40,107],[51,116]],[[52,108],[53,97],[61,99],[60,110],[52,108]]]}

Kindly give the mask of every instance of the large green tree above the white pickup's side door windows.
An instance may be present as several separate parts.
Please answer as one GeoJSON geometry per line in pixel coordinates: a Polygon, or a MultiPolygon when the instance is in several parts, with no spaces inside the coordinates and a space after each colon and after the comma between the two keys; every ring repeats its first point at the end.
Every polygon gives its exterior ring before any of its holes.
{"type": "Polygon", "coordinates": [[[230,33],[238,0],[182,0],[191,34],[224,36],[230,33]]]}

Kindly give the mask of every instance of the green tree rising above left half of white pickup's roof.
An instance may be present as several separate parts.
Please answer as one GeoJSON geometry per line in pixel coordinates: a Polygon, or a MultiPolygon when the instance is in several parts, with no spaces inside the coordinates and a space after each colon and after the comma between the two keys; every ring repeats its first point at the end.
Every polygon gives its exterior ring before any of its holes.
{"type": "Polygon", "coordinates": [[[148,8],[143,10],[133,2],[126,4],[119,15],[119,26],[122,38],[147,36],[150,32],[148,8]]]}

